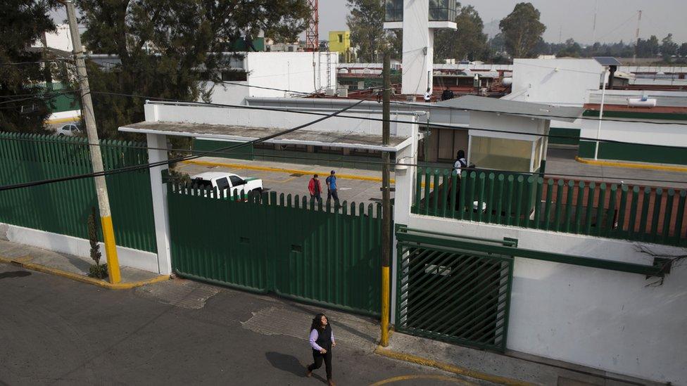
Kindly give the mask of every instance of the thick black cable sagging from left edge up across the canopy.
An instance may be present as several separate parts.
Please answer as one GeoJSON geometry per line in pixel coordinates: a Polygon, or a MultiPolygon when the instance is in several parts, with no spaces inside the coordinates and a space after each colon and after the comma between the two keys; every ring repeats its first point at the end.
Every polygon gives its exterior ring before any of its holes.
{"type": "MultiPolygon", "coordinates": [[[[331,117],[335,117],[336,115],[339,115],[341,112],[344,112],[346,110],[350,110],[351,108],[355,107],[356,105],[359,105],[360,103],[363,103],[365,99],[358,101],[357,103],[346,106],[345,108],[342,108],[340,110],[336,110],[335,112],[332,112],[329,115],[326,115],[324,117],[317,118],[317,120],[310,121],[305,124],[298,125],[296,127],[293,127],[291,129],[286,129],[283,131],[279,131],[278,133],[271,134],[269,136],[264,136],[259,139],[254,139],[253,141],[248,141],[245,143],[239,143],[237,145],[233,146],[227,146],[225,148],[219,148],[215,149],[215,151],[221,151],[221,150],[232,150],[234,148],[241,148],[244,146],[248,145],[254,145],[256,143],[264,142],[264,141],[269,141],[270,139],[276,138],[278,136],[283,136],[284,134],[289,134],[293,131],[296,131],[298,129],[303,129],[303,127],[308,127],[310,125],[316,124],[317,122],[322,122],[324,120],[327,120],[331,117]]],[[[53,184],[56,182],[62,182],[62,181],[70,181],[73,179],[84,179],[84,178],[91,178],[91,177],[96,177],[96,176],[106,176],[109,174],[118,174],[118,173],[123,173],[123,172],[132,172],[134,170],[139,170],[139,169],[150,169],[151,167],[157,167],[157,166],[162,166],[162,165],[169,165],[170,163],[174,162],[181,162],[181,161],[186,161],[186,160],[194,160],[196,158],[203,157],[205,153],[201,152],[196,155],[189,155],[187,157],[178,157],[172,160],[166,160],[166,161],[158,161],[158,162],[149,162],[144,165],[134,165],[130,167],[120,167],[118,169],[111,169],[111,170],[103,170],[102,172],[93,172],[93,173],[86,173],[86,174],[77,174],[74,176],[66,176],[66,177],[58,177],[55,179],[44,179],[44,180],[39,180],[39,181],[30,181],[30,182],[25,182],[21,184],[13,184],[13,185],[8,185],[8,186],[0,186],[0,191],[9,191],[13,189],[18,189],[18,188],[28,188],[30,186],[39,186],[39,185],[44,185],[44,184],[53,184]]]]}

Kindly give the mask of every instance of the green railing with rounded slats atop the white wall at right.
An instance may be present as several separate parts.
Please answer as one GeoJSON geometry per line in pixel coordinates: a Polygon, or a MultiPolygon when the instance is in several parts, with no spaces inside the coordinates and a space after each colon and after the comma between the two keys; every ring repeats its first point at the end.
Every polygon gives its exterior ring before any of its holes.
{"type": "Polygon", "coordinates": [[[687,191],[418,168],[412,212],[545,231],[687,245],[687,191]]]}

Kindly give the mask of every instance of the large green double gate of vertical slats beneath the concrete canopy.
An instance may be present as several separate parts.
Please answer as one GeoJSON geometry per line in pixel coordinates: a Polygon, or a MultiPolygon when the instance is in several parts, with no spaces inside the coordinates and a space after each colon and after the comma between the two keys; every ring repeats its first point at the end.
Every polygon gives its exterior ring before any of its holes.
{"type": "Polygon", "coordinates": [[[168,184],[180,276],[379,315],[381,206],[168,184]]]}

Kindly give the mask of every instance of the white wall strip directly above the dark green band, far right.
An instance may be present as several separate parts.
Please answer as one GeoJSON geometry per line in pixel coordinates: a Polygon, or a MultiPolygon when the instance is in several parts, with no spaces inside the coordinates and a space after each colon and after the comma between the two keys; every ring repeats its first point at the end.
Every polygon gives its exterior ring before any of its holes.
{"type": "MultiPolygon", "coordinates": [[[[616,120],[617,118],[613,118],[616,120]]],[[[580,136],[596,139],[598,120],[581,120],[580,136]]],[[[600,139],[612,139],[642,145],[687,146],[687,131],[681,124],[651,124],[606,121],[601,122],[600,139]]]]}

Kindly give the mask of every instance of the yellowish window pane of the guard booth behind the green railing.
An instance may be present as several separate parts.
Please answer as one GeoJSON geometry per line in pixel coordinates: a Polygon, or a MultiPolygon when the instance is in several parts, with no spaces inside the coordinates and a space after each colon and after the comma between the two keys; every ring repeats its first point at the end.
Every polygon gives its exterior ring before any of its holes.
{"type": "Polygon", "coordinates": [[[471,136],[469,162],[478,168],[529,172],[532,142],[471,136]]]}

